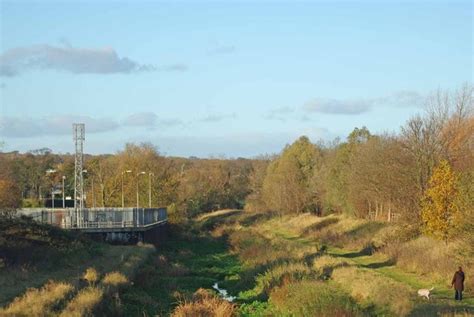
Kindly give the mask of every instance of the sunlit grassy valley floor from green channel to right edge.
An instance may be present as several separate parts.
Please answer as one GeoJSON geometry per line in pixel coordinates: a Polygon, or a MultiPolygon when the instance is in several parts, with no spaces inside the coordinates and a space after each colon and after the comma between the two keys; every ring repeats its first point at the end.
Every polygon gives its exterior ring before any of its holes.
{"type": "Polygon", "coordinates": [[[449,251],[456,246],[401,239],[409,232],[400,230],[345,216],[206,214],[175,231],[146,262],[142,279],[125,291],[124,305],[131,315],[148,316],[474,315],[472,282],[462,303],[449,288],[457,267],[449,251]],[[216,282],[236,296],[224,315],[225,301],[212,290],[216,282]],[[430,287],[430,301],[417,296],[419,288],[430,287]]]}

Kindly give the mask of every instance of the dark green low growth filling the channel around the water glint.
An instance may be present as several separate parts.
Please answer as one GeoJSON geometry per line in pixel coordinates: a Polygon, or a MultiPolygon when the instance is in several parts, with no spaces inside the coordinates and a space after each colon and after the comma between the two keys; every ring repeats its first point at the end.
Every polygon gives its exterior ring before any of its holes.
{"type": "Polygon", "coordinates": [[[124,292],[125,315],[169,315],[180,300],[216,282],[232,293],[241,270],[237,257],[229,252],[225,238],[198,229],[171,230],[141,267],[135,285],[124,292]]]}

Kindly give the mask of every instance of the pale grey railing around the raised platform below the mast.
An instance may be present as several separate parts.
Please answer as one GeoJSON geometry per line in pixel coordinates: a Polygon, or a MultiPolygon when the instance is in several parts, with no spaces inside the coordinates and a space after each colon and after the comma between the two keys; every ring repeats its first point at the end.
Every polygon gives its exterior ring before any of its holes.
{"type": "Polygon", "coordinates": [[[28,208],[18,214],[64,229],[140,228],[168,220],[166,208],[28,208]]]}

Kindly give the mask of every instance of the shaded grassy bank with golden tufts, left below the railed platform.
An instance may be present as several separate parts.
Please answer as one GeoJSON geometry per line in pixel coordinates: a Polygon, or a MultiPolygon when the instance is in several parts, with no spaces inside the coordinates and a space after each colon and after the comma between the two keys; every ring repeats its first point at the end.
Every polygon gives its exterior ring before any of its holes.
{"type": "Polygon", "coordinates": [[[0,226],[0,316],[116,314],[124,286],[154,252],[148,245],[97,243],[28,219],[3,219],[0,226]]]}

